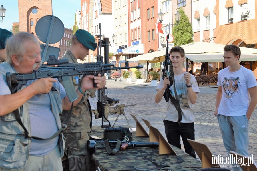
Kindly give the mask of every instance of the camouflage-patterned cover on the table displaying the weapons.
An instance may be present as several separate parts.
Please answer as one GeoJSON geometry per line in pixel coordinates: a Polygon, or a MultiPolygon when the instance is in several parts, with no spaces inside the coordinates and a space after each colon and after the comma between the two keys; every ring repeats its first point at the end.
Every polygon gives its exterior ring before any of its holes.
{"type": "MultiPolygon", "coordinates": [[[[118,127],[118,126],[117,126],[118,127]]],[[[91,135],[103,138],[104,128],[93,126],[91,135]]],[[[133,141],[149,142],[148,137],[136,137],[133,133],[133,141]]],[[[125,171],[125,170],[167,170],[188,171],[201,170],[202,163],[189,154],[172,146],[178,156],[171,154],[159,154],[158,148],[136,147],[119,150],[115,155],[109,155],[104,148],[104,143],[97,143],[92,158],[101,171],[125,171]]]]}

